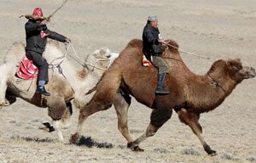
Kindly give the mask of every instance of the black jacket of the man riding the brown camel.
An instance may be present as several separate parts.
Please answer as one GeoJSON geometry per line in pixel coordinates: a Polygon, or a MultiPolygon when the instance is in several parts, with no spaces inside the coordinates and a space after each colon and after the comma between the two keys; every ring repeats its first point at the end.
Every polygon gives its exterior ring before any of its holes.
{"type": "Polygon", "coordinates": [[[160,55],[162,53],[161,45],[158,42],[160,31],[157,27],[147,24],[143,30],[143,53],[147,55],[160,55]]]}

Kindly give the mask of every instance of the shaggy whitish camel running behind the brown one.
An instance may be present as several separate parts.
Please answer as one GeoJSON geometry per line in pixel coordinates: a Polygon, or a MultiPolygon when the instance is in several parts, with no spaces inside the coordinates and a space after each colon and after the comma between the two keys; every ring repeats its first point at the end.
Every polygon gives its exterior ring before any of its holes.
{"type": "MultiPolygon", "coordinates": [[[[12,104],[15,102],[15,98],[19,97],[38,107],[48,107],[49,116],[53,119],[53,128],[47,126],[43,129],[51,129],[51,131],[55,129],[59,140],[63,141],[61,128],[71,125],[72,104],[70,101],[74,98],[74,104],[80,108],[90,100],[92,94],[85,96],[84,93],[96,85],[104,70],[108,68],[108,58],[111,53],[101,50],[99,53],[89,54],[85,63],[95,65],[94,70],[88,68],[79,70],[67,59],[61,63],[62,74],[58,73],[57,68],[50,69],[49,83],[45,87],[51,96],[47,97],[35,93],[36,80],[26,81],[15,76],[17,65],[25,55],[24,49],[22,43],[15,42],[6,53],[4,64],[0,66],[0,104],[2,106],[12,104]]],[[[48,42],[44,58],[49,63],[53,65],[60,63],[63,55],[58,42],[48,42]]]]}

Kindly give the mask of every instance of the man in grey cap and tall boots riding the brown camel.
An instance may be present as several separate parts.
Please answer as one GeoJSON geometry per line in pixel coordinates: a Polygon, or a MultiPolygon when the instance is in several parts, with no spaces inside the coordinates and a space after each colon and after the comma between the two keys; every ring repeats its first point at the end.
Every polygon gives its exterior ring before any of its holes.
{"type": "Polygon", "coordinates": [[[166,89],[163,88],[163,84],[166,78],[166,74],[169,73],[168,65],[164,59],[160,57],[162,53],[161,44],[162,37],[160,37],[160,31],[158,30],[157,17],[148,16],[148,23],[143,30],[143,53],[146,58],[150,60],[153,65],[158,68],[158,83],[155,90],[156,94],[169,94],[166,89]]]}

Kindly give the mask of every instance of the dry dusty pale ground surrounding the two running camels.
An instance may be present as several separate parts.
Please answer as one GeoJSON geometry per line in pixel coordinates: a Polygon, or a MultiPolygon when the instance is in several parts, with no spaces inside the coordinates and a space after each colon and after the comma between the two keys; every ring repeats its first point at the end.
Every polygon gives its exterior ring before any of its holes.
{"type": "MultiPolygon", "coordinates": [[[[0,63],[4,51],[15,41],[25,42],[25,18],[35,7],[51,14],[62,0],[0,1],[0,63]]],[[[159,17],[160,32],[180,48],[211,59],[182,53],[189,69],[205,74],[217,59],[240,58],[256,68],[256,2],[252,0],[69,0],[48,27],[70,37],[77,53],[108,47],[119,53],[132,38],[141,38],[148,14],[159,17]]],[[[141,144],[143,153],[126,149],[112,109],[91,115],[84,126],[80,146],[68,144],[75,132],[79,110],[74,109],[73,126],[63,132],[65,144],[56,133],[38,130],[50,121],[46,109],[19,99],[0,110],[0,162],[256,162],[255,79],[241,83],[217,110],[201,115],[204,137],[218,155],[208,156],[201,143],[177,119],[172,119],[141,144]],[[102,147],[102,148],[100,148],[102,147]]],[[[132,100],[129,126],[133,138],[148,126],[151,110],[132,100]]]]}

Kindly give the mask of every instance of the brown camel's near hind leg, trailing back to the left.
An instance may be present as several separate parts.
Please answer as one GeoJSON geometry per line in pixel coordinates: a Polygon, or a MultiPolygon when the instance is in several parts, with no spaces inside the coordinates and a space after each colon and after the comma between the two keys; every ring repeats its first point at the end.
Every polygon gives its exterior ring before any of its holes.
{"type": "MultiPolygon", "coordinates": [[[[110,70],[110,67],[108,70],[110,70]]],[[[79,112],[79,124],[77,132],[71,137],[71,143],[76,143],[81,136],[82,128],[84,126],[84,121],[88,116],[101,111],[108,110],[112,104],[113,99],[116,97],[116,93],[119,89],[121,82],[121,75],[119,73],[119,68],[108,72],[106,71],[96,87],[96,93],[88,104],[84,108],[80,109],[79,112]]]]}

